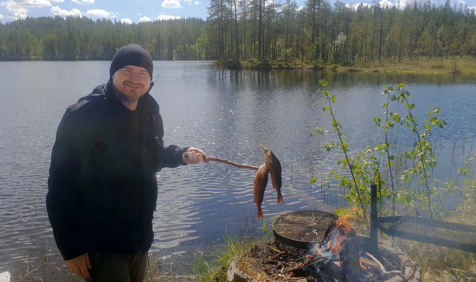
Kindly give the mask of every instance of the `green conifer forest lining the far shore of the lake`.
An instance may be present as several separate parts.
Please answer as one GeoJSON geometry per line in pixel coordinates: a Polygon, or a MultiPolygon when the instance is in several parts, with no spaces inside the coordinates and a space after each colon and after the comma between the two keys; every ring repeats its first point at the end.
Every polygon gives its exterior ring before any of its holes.
{"type": "Polygon", "coordinates": [[[0,23],[0,59],[112,59],[137,43],[157,60],[290,58],[341,65],[476,56],[475,10],[407,4],[348,6],[307,0],[211,0],[206,20],[122,24],[56,16],[0,23]]]}

